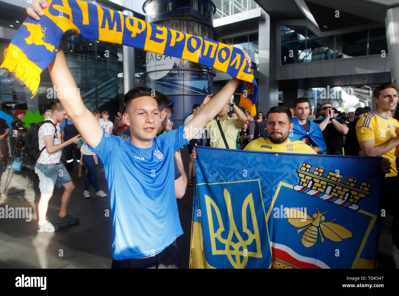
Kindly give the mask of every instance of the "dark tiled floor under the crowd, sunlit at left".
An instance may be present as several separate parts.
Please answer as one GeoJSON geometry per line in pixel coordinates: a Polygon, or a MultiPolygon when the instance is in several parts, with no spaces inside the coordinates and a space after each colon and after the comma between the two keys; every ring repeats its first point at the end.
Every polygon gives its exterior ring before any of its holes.
{"type": "MultiPolygon", "coordinates": [[[[187,147],[182,152],[185,168],[188,164],[187,147]]],[[[3,165],[1,165],[4,167],[3,165]]],[[[12,176],[6,195],[0,197],[0,207],[31,207],[32,221],[25,219],[0,219],[0,268],[110,268],[112,257],[112,220],[105,216],[110,209],[109,196],[98,197],[93,188],[91,197],[83,197],[86,178],[77,177],[77,164],[74,163],[70,175],[75,184],[68,213],[79,218],[76,225],[61,225],[55,233],[37,233],[36,208],[40,198],[38,178],[35,174],[34,191],[24,191],[27,185],[27,173],[15,173],[12,176]]],[[[109,194],[105,174],[98,169],[100,188],[109,194]]],[[[8,171],[1,171],[0,193],[8,171]]],[[[180,221],[184,234],[177,239],[182,251],[182,268],[188,268],[190,256],[190,236],[192,221],[192,197],[194,187],[187,187],[185,196],[178,200],[180,221]]],[[[49,202],[47,217],[55,225],[58,216],[63,188],[55,188],[49,202]]],[[[380,251],[384,257],[384,267],[393,267],[391,258],[392,242],[390,223],[386,223],[381,233],[380,251]]]]}

